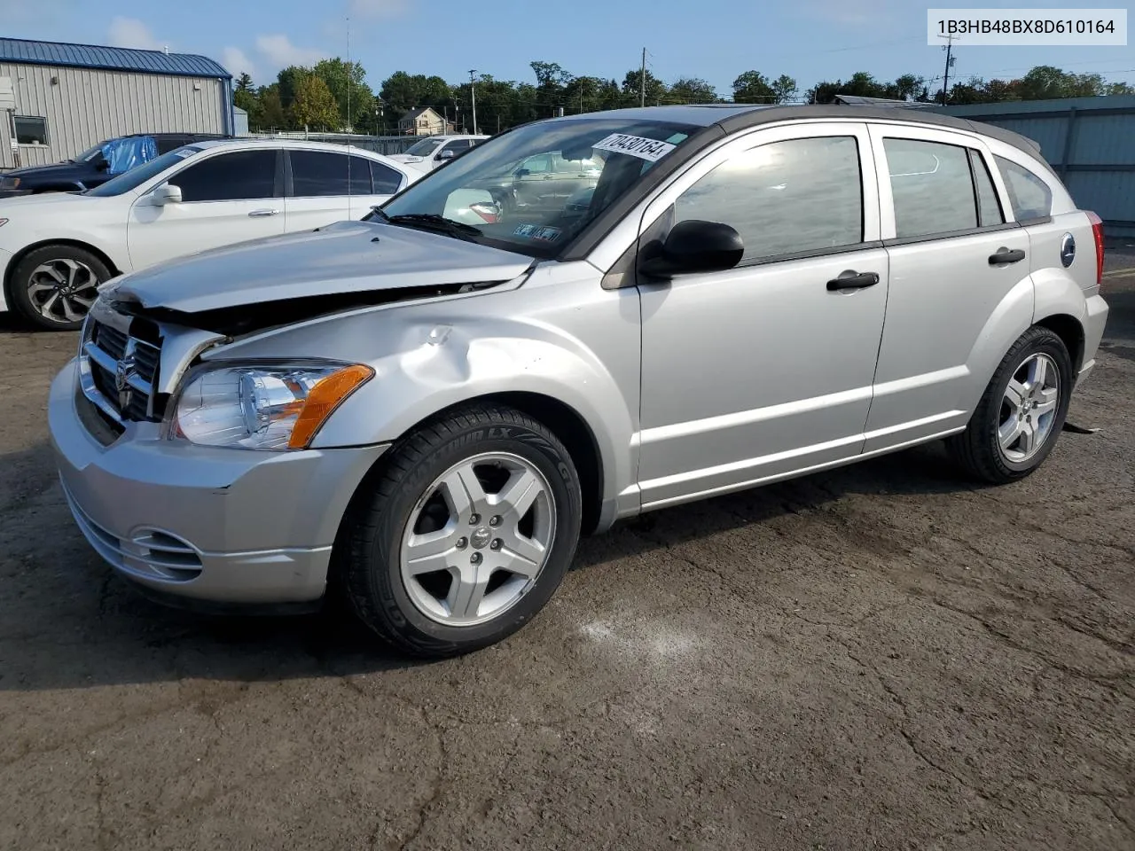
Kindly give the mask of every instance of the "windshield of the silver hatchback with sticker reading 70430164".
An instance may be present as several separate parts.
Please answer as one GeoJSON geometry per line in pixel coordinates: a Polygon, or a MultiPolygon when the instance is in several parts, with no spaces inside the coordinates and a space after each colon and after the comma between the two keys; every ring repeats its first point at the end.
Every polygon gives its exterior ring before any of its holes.
{"type": "Polygon", "coordinates": [[[470,149],[367,218],[426,228],[421,217],[444,217],[477,228],[465,238],[552,258],[697,129],[617,117],[526,125],[470,149]]]}

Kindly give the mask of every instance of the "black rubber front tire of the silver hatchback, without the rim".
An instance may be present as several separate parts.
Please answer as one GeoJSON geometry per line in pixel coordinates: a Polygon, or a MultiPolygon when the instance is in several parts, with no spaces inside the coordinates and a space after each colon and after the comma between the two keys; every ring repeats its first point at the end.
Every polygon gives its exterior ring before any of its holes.
{"type": "Polygon", "coordinates": [[[472,404],[400,440],[376,475],[363,482],[336,542],[336,579],[363,623],[401,650],[457,656],[501,641],[547,604],[574,558],[581,519],[579,475],[555,435],[513,408],[472,404]],[[438,477],[487,452],[519,455],[543,473],[555,504],[552,545],[535,584],[499,616],[471,626],[438,623],[410,599],[400,563],[402,536],[438,477]]]}

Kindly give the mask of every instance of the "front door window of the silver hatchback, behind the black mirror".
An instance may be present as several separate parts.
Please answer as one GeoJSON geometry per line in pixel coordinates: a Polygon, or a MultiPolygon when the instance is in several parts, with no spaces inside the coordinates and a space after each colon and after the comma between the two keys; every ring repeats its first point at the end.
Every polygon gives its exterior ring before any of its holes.
{"type": "Polygon", "coordinates": [[[772,142],[737,154],[688,188],[674,221],[737,229],[742,263],[863,242],[863,178],[854,136],[772,142]]]}

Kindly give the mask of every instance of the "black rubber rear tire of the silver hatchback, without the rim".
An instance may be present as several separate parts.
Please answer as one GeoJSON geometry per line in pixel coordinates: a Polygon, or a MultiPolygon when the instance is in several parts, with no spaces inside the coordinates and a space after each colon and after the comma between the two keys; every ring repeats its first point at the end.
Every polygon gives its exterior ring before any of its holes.
{"type": "Polygon", "coordinates": [[[1024,479],[1044,463],[1056,446],[1068,415],[1075,378],[1071,357],[1063,340],[1048,328],[1033,326],[1012,344],[1001,360],[966,430],[947,440],[950,454],[966,473],[981,481],[1008,485],[1024,479]],[[1035,454],[1025,461],[1015,462],[1006,455],[998,440],[1002,398],[1010,379],[1035,354],[1048,355],[1056,363],[1060,377],[1056,418],[1035,454]]]}

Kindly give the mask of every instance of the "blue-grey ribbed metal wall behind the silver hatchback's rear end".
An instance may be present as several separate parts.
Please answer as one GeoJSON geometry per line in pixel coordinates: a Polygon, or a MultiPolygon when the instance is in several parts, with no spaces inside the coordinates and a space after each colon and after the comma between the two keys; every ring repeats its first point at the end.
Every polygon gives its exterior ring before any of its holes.
{"type": "Polygon", "coordinates": [[[1077,207],[1109,236],[1135,236],[1135,95],[939,107],[1036,141],[1077,207]]]}

